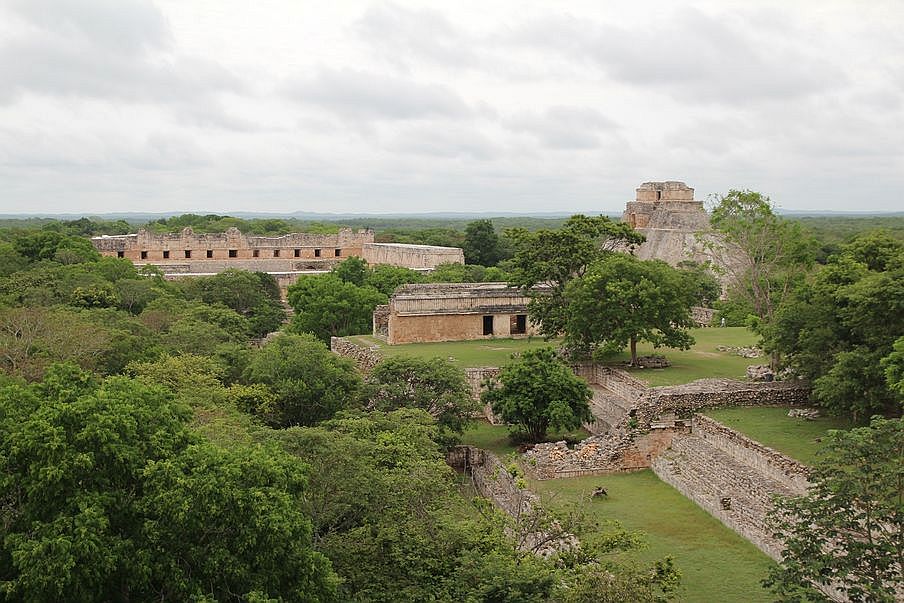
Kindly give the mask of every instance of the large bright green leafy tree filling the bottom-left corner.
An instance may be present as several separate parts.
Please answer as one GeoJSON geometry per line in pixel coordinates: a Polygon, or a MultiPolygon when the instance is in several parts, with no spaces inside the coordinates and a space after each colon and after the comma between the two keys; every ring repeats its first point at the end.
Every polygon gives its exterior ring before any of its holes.
{"type": "Polygon", "coordinates": [[[159,386],[71,365],[0,389],[0,596],[334,600],[303,466],[215,447],[188,418],[159,386]]]}

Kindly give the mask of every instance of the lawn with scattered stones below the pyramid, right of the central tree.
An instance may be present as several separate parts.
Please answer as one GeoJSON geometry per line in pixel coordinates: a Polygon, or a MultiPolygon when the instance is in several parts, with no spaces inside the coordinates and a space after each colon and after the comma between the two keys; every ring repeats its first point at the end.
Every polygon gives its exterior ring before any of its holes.
{"type": "MultiPolygon", "coordinates": [[[[638,343],[638,354],[660,354],[668,358],[672,366],[665,369],[631,369],[631,374],[652,386],[680,385],[696,379],[713,377],[744,379],[749,365],[768,362],[765,357],[741,358],[716,349],[716,346],[719,345],[732,347],[756,345],[758,337],[745,327],[708,327],[691,329],[690,332],[697,343],[689,350],[670,348],[654,350],[653,346],[648,343],[638,343]]],[[[629,354],[623,353],[617,356],[616,360],[629,360],[630,358],[629,354]]]]}

